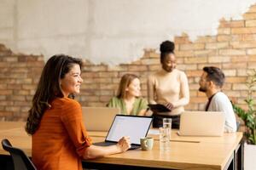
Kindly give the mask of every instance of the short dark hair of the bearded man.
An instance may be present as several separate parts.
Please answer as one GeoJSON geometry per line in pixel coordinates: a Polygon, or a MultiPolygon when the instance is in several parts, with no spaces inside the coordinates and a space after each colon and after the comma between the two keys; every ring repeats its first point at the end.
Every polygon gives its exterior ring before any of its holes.
{"type": "Polygon", "coordinates": [[[218,67],[206,66],[203,71],[207,72],[207,81],[214,82],[220,88],[223,87],[225,81],[225,75],[218,67]]]}

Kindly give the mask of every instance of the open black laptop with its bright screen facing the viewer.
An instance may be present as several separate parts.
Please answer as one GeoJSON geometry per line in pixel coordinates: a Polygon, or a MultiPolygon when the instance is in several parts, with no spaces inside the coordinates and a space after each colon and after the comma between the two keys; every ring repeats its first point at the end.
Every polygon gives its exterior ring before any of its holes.
{"type": "Polygon", "coordinates": [[[116,115],[105,141],[95,143],[95,145],[108,146],[117,144],[123,136],[130,136],[130,150],[140,148],[140,139],[147,136],[151,122],[152,117],[150,116],[116,115]]]}

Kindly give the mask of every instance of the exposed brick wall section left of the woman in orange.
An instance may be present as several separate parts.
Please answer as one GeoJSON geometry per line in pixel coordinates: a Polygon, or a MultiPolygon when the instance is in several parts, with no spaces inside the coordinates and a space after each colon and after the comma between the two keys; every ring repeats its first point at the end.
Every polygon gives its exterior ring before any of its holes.
{"type": "Polygon", "coordinates": [[[0,44],[0,120],[25,120],[43,56],[14,54],[0,44]]]}

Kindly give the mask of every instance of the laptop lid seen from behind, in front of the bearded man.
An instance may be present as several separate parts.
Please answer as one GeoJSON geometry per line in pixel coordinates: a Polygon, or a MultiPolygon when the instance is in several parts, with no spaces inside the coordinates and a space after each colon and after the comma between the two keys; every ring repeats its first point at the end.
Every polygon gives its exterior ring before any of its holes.
{"type": "Polygon", "coordinates": [[[222,136],[224,113],[221,111],[184,111],[180,116],[181,136],[222,136]]]}

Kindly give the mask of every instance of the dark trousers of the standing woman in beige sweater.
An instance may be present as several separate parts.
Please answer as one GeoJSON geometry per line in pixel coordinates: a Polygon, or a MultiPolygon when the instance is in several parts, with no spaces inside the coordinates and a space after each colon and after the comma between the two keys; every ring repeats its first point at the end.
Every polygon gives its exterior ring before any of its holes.
{"type": "Polygon", "coordinates": [[[163,127],[163,118],[172,118],[172,128],[179,129],[180,115],[167,116],[159,115],[157,113],[153,114],[153,127],[163,127]]]}

